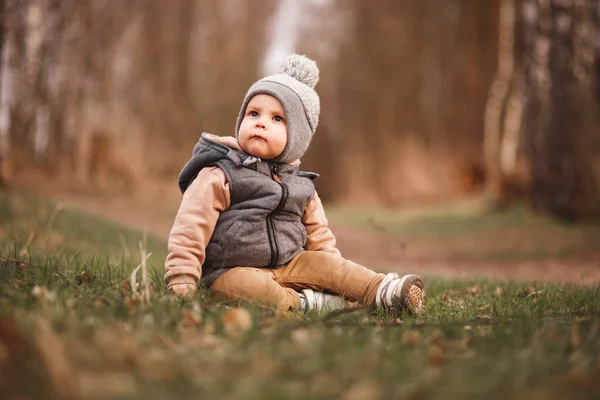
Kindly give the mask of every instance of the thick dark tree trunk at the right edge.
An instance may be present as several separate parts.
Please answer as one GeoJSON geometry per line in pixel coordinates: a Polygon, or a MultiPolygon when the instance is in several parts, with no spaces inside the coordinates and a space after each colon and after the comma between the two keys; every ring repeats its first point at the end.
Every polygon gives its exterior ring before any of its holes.
{"type": "Polygon", "coordinates": [[[525,0],[524,153],[529,199],[572,220],[600,216],[600,1],[525,0]]]}

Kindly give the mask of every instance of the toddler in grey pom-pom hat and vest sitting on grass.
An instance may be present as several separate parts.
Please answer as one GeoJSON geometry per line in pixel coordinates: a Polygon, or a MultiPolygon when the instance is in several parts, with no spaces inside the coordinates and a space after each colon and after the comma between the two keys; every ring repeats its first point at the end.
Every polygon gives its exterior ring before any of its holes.
{"type": "Polygon", "coordinates": [[[319,120],[314,61],[293,54],[254,83],[235,137],[202,134],[179,176],[181,206],[165,280],[280,310],[343,308],[346,300],[414,314],[423,279],[376,273],[342,258],[313,180],[299,169],[319,120]]]}

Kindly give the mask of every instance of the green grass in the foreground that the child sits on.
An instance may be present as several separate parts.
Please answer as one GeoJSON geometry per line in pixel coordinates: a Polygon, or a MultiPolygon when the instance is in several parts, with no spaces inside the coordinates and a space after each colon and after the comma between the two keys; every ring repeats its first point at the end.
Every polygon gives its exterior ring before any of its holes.
{"type": "Polygon", "coordinates": [[[142,233],[22,193],[0,194],[0,218],[6,398],[600,395],[599,286],[432,278],[419,318],[279,314],[166,294],[149,237],[146,304],[125,283],[142,233]]]}

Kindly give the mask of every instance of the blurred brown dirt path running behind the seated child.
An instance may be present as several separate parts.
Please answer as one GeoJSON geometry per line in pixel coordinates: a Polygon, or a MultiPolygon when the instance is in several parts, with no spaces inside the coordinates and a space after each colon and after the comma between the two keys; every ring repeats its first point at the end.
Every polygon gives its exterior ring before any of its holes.
{"type": "MultiPolygon", "coordinates": [[[[166,239],[169,235],[177,205],[163,204],[157,209],[150,205],[132,204],[124,199],[98,199],[77,195],[55,195],[54,200],[66,208],[89,212],[133,229],[147,228],[149,233],[166,239]]],[[[526,262],[489,262],[456,256],[457,249],[477,243],[464,240],[428,239],[404,243],[397,238],[374,231],[331,226],[344,257],[380,271],[418,272],[446,278],[488,277],[511,280],[547,282],[600,282],[600,253],[586,254],[566,260],[526,262]]]]}

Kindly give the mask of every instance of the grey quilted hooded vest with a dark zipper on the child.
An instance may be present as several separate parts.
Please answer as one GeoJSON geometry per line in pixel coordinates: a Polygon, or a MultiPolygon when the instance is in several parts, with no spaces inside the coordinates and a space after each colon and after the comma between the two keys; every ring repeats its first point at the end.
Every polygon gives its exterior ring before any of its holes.
{"type": "Polygon", "coordinates": [[[203,136],[179,175],[182,193],[209,166],[221,168],[229,182],[231,204],[219,216],[206,246],[202,266],[206,287],[233,267],[285,265],[306,244],[302,215],[315,193],[312,180],[318,175],[289,164],[255,160],[203,136]]]}

